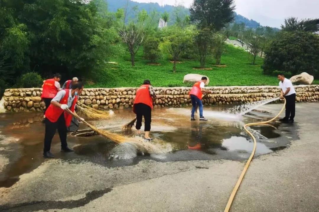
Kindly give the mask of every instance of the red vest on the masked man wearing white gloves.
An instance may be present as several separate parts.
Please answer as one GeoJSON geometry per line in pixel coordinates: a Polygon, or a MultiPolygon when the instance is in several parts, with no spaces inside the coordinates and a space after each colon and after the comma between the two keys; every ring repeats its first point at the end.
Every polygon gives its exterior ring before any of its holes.
{"type": "MultiPolygon", "coordinates": [[[[68,104],[68,98],[69,98],[69,89],[65,89],[65,95],[64,97],[61,99],[61,101],[59,102],[60,104],[68,104]]],[[[72,106],[70,108],[70,111],[74,112],[75,109],[75,105],[78,101],[78,96],[75,96],[72,106]]],[[[65,119],[65,125],[67,127],[70,126],[71,120],[72,120],[72,115],[64,110],[62,110],[60,107],[54,106],[52,104],[50,104],[50,106],[48,107],[48,109],[45,112],[45,117],[51,121],[51,122],[56,122],[58,121],[60,115],[64,112],[64,119],[65,119]]]]}

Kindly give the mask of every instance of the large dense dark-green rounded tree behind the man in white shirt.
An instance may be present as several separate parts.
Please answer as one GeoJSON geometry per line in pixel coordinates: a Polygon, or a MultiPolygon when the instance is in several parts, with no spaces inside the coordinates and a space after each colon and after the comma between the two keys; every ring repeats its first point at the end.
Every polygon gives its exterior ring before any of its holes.
{"type": "Polygon", "coordinates": [[[280,32],[265,51],[263,71],[288,75],[307,72],[319,78],[319,36],[309,32],[280,32]]]}

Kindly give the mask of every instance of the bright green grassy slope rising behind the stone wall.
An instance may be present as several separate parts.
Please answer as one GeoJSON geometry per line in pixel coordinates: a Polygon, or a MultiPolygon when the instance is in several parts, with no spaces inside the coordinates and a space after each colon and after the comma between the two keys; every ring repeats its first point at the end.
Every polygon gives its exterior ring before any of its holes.
{"type": "Polygon", "coordinates": [[[261,65],[262,58],[256,59],[256,65],[251,65],[252,55],[240,48],[226,46],[221,63],[227,67],[212,67],[214,60],[207,59],[206,68],[212,70],[194,70],[199,66],[197,60],[182,60],[177,64],[177,73],[173,73],[173,64],[166,58],[160,59],[160,66],[147,65],[140,49],[136,55],[135,67],[131,66],[128,54],[113,58],[112,62],[118,65],[108,64],[108,68],[99,73],[95,84],[88,87],[138,87],[144,79],[150,79],[155,87],[187,86],[183,84],[186,74],[201,74],[209,77],[209,86],[231,85],[278,85],[276,77],[263,75],[261,65]]]}

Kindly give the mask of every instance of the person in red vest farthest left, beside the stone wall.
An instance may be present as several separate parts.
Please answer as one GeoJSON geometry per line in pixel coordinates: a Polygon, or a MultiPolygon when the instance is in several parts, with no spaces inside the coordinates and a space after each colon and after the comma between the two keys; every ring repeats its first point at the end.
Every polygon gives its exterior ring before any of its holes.
{"type": "Polygon", "coordinates": [[[43,81],[41,98],[45,103],[43,110],[43,119],[45,119],[45,111],[51,103],[51,100],[56,96],[57,92],[61,90],[60,86],[61,74],[55,74],[52,79],[43,81]]]}

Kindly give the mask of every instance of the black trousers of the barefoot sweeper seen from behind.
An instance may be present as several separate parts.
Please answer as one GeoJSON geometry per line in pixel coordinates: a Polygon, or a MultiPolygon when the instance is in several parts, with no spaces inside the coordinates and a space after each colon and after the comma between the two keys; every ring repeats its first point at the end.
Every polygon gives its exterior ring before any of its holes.
{"type": "Polygon", "coordinates": [[[141,129],[142,126],[142,117],[144,116],[144,131],[151,130],[151,122],[152,122],[152,108],[148,105],[143,103],[138,103],[134,105],[135,112],[136,112],[136,129],[141,129]]]}

